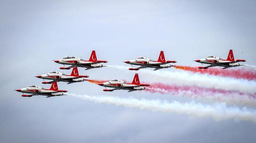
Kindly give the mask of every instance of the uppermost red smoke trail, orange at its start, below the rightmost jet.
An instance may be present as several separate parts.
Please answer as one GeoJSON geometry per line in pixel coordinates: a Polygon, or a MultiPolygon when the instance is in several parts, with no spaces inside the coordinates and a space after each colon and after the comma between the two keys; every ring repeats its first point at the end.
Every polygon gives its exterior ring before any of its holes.
{"type": "Polygon", "coordinates": [[[208,68],[199,69],[198,67],[191,66],[173,66],[176,69],[186,70],[193,73],[209,74],[214,76],[231,77],[236,79],[256,80],[256,70],[254,69],[221,69],[221,68],[208,68]]]}

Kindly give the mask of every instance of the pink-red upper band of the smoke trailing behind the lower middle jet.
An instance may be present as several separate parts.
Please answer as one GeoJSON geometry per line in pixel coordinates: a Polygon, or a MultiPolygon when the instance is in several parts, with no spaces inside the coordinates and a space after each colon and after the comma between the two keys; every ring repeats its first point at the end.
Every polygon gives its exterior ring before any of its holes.
{"type": "Polygon", "coordinates": [[[203,94],[214,96],[214,94],[222,94],[223,96],[229,96],[237,94],[239,96],[248,96],[249,98],[256,99],[256,93],[255,94],[245,94],[239,91],[233,91],[233,90],[223,90],[223,89],[215,89],[215,88],[205,88],[205,87],[199,87],[199,86],[177,86],[177,85],[168,85],[168,84],[162,84],[162,83],[151,83],[150,87],[147,88],[146,91],[149,91],[151,93],[159,92],[161,94],[165,93],[171,93],[171,94],[180,94],[184,91],[187,93],[187,95],[191,96],[203,96],[203,94]]]}

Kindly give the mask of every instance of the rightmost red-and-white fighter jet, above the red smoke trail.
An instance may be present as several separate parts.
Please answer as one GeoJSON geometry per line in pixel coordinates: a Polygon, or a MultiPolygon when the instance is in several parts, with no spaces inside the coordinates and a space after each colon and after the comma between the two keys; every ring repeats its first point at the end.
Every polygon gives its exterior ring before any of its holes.
{"type": "Polygon", "coordinates": [[[207,69],[209,67],[216,67],[216,66],[224,67],[222,69],[230,68],[230,67],[238,67],[238,66],[243,66],[243,65],[241,65],[237,62],[245,62],[245,61],[246,61],[245,59],[237,59],[235,61],[232,50],[229,50],[227,59],[222,59],[222,58],[219,58],[216,56],[207,56],[206,58],[195,60],[195,62],[198,62],[198,63],[210,64],[207,67],[198,67],[200,69],[207,69]]]}

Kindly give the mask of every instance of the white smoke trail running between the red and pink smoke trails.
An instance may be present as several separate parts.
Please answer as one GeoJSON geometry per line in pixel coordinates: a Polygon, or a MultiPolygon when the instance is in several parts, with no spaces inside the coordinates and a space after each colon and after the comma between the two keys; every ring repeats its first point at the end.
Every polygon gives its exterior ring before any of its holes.
{"type": "MultiPolygon", "coordinates": [[[[129,72],[127,66],[112,65],[120,70],[129,72]]],[[[243,79],[233,79],[227,77],[210,76],[206,74],[193,74],[184,71],[171,72],[167,70],[152,71],[149,69],[140,69],[139,74],[143,74],[148,78],[155,78],[159,81],[168,81],[170,84],[176,85],[197,85],[207,88],[217,88],[224,90],[238,90],[243,93],[256,93],[256,82],[243,79]]]]}

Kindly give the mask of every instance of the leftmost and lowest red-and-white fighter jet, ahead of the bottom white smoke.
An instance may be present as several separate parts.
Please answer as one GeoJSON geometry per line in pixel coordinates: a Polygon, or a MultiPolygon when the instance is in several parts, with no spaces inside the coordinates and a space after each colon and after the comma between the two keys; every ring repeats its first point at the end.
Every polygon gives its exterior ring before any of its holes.
{"type": "Polygon", "coordinates": [[[62,96],[64,95],[61,92],[67,92],[67,90],[58,90],[58,85],[57,83],[52,83],[52,86],[50,89],[45,89],[40,86],[36,85],[30,85],[27,88],[21,88],[17,89],[16,91],[24,93],[28,93],[30,95],[21,95],[22,97],[32,97],[35,95],[43,95],[47,97],[53,97],[53,96],[62,96]]]}

